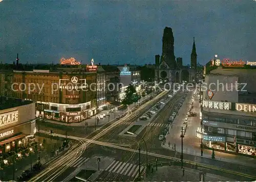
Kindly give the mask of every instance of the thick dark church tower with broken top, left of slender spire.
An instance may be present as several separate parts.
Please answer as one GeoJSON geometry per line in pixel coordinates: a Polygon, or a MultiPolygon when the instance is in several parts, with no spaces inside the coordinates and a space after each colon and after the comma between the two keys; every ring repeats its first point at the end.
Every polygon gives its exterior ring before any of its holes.
{"type": "Polygon", "coordinates": [[[173,30],[165,27],[163,31],[162,57],[170,66],[170,69],[176,69],[176,61],[174,56],[174,35],[173,30]]]}

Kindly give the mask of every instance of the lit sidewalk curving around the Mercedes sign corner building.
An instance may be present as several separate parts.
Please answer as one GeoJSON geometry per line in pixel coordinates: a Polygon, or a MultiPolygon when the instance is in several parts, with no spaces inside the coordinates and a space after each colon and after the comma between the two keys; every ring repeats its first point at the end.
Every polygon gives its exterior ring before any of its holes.
{"type": "MultiPolygon", "coordinates": [[[[141,97],[140,102],[142,102],[143,100],[147,99],[151,95],[152,94],[146,95],[144,98],[141,97]]],[[[100,126],[100,125],[104,125],[104,124],[108,123],[109,121],[111,122],[111,121],[113,121],[115,119],[115,117],[118,117],[118,115],[120,115],[121,113],[126,112],[128,109],[132,110],[134,107],[135,107],[135,104],[132,103],[132,104],[128,105],[128,107],[126,109],[124,109],[124,110],[116,110],[115,113],[111,112],[110,113],[110,117],[106,116],[105,118],[100,119],[98,124],[97,124],[97,121],[96,121],[96,125],[100,126]]],[[[102,111],[98,112],[96,114],[96,116],[94,115],[91,118],[83,120],[83,121],[81,121],[79,123],[68,123],[68,126],[84,126],[86,124],[86,122],[87,122],[87,126],[95,126],[95,117],[96,118],[99,117],[103,113],[106,113],[108,110],[109,109],[102,110],[102,111]]],[[[65,125],[65,126],[67,126],[67,123],[63,123],[63,122],[59,122],[59,121],[52,121],[52,120],[45,119],[45,122],[46,123],[53,123],[53,124],[57,124],[57,125],[65,125]]]]}

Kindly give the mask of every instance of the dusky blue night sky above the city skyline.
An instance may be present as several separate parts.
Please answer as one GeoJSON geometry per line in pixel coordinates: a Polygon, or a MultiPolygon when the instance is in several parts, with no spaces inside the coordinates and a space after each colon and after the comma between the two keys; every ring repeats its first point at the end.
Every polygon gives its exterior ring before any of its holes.
{"type": "MultiPolygon", "coordinates": [[[[1,1],[1,0],[0,0],[1,1]]],[[[0,61],[83,64],[154,63],[171,27],[175,56],[190,63],[193,37],[198,62],[219,58],[256,61],[256,2],[3,0],[0,61]]]]}

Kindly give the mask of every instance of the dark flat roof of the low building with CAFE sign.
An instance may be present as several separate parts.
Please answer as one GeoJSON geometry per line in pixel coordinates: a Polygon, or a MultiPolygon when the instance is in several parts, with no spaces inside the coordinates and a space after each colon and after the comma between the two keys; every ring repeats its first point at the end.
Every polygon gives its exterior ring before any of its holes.
{"type": "Polygon", "coordinates": [[[33,101],[16,99],[10,97],[0,97],[0,110],[31,104],[33,101]]]}

